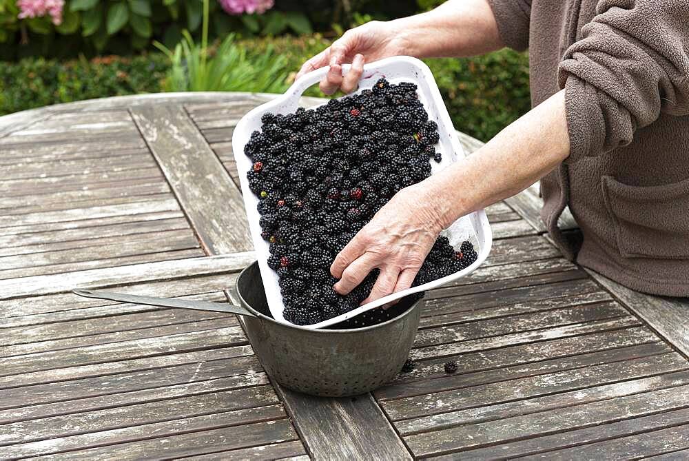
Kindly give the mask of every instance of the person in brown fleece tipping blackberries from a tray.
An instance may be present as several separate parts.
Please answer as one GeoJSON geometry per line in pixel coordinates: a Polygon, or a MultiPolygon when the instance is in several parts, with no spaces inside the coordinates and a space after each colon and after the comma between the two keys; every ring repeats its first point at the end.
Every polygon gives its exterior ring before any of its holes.
{"type": "Polygon", "coordinates": [[[375,267],[369,300],[409,287],[441,229],[540,179],[542,218],[570,260],[639,291],[689,296],[689,1],[450,0],[348,30],[298,76],[329,65],[320,88],[351,92],[367,61],[504,46],[529,50],[531,112],[398,192],[338,254],[336,290],[375,267]],[[557,228],[566,205],[584,237],[578,254],[557,228]]]}

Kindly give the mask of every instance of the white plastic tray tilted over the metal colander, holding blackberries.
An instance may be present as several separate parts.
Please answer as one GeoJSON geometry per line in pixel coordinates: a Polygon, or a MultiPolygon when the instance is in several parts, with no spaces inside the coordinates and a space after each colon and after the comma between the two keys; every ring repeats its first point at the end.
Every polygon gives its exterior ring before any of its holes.
{"type": "MultiPolygon", "coordinates": [[[[343,65],[343,72],[346,74],[349,71],[349,65],[343,65]]],[[[299,98],[302,93],[311,85],[318,83],[320,79],[327,73],[328,68],[320,68],[313,72],[309,72],[302,76],[298,81],[278,98],[256,107],[248,114],[243,116],[239,121],[234,134],[232,135],[232,150],[234,158],[237,163],[237,170],[239,172],[240,184],[244,195],[244,204],[247,209],[249,218],[249,229],[251,230],[251,238],[254,241],[254,248],[256,249],[256,256],[258,258],[258,267],[260,268],[261,277],[263,278],[263,285],[265,287],[265,294],[268,301],[268,307],[271,315],[279,322],[284,322],[292,325],[282,316],[284,305],[282,304],[282,296],[280,295],[280,287],[278,285],[278,274],[268,267],[269,244],[261,238],[260,225],[258,221],[260,214],[256,209],[258,205],[258,197],[249,189],[249,182],[246,173],[251,168],[251,159],[244,154],[244,146],[249,141],[251,132],[260,130],[260,118],[265,112],[272,112],[274,114],[289,114],[295,112],[299,107],[299,98]]],[[[401,81],[411,81],[418,86],[419,99],[423,103],[426,112],[429,114],[429,119],[438,123],[438,133],[440,134],[440,141],[435,145],[435,149],[442,153],[442,161],[435,163],[431,160],[431,174],[435,174],[442,170],[447,165],[457,161],[457,158],[464,157],[464,150],[457,139],[457,134],[452,125],[452,121],[447,112],[447,109],[440,96],[438,85],[435,84],[433,74],[426,64],[413,57],[391,57],[364,65],[364,73],[359,81],[359,88],[357,92],[366,88],[371,88],[380,79],[385,77],[390,83],[400,83],[401,81]]],[[[453,223],[443,234],[450,240],[451,245],[458,247],[463,240],[471,241],[477,247],[477,260],[462,269],[460,272],[455,272],[449,276],[433,280],[433,282],[419,285],[398,293],[391,294],[379,300],[368,303],[342,314],[341,316],[333,317],[313,325],[305,325],[307,328],[322,328],[333,325],[347,318],[357,316],[364,311],[380,307],[408,294],[416,293],[418,291],[425,291],[431,288],[439,287],[445,283],[456,280],[457,278],[471,274],[474,269],[479,267],[489,252],[493,243],[493,234],[491,233],[491,225],[486,218],[483,210],[473,212],[464,216],[455,223],[453,223]]]]}

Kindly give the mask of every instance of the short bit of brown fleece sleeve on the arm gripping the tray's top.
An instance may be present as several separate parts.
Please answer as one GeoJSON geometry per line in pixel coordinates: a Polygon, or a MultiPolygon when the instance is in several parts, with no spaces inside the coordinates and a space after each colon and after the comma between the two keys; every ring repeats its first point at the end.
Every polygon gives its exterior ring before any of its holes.
{"type": "Polygon", "coordinates": [[[523,51],[528,48],[531,0],[488,0],[502,43],[523,51]]]}

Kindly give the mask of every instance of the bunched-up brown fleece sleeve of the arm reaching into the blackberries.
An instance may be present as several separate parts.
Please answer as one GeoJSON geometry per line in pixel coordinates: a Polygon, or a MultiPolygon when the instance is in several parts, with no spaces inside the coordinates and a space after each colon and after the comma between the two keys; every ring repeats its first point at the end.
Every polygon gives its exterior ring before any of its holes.
{"type": "Polygon", "coordinates": [[[601,0],[559,65],[573,163],[689,114],[689,1],[601,0]]]}

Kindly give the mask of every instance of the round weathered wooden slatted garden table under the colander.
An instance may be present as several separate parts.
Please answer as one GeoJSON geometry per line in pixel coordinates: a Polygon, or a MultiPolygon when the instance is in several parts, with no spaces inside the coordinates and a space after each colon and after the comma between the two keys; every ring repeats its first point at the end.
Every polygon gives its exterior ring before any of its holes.
{"type": "Polygon", "coordinates": [[[68,292],[233,296],[254,255],[232,130],[271,97],[0,118],[0,458],[689,457],[689,303],[568,263],[533,189],[487,209],[486,264],[427,294],[416,369],[357,398],[271,382],[235,316],[68,292]]]}

